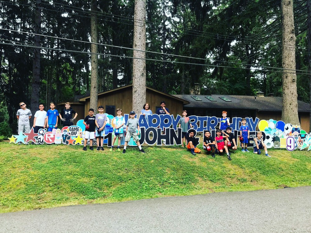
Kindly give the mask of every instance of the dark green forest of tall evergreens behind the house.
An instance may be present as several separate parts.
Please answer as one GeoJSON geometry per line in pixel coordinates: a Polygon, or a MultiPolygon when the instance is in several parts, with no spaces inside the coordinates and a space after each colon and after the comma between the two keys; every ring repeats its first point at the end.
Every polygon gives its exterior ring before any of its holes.
{"type": "MultiPolygon", "coordinates": [[[[106,91],[132,83],[134,0],[96,3],[99,91],[106,91]]],[[[0,0],[0,13],[0,135],[10,136],[18,103],[29,108],[33,91],[45,110],[90,91],[91,1],[0,0]]],[[[147,86],[168,94],[189,94],[198,83],[201,94],[282,95],[281,1],[147,0],[146,13],[147,86]]],[[[295,1],[297,92],[305,102],[308,16],[309,0],[295,1]]]]}

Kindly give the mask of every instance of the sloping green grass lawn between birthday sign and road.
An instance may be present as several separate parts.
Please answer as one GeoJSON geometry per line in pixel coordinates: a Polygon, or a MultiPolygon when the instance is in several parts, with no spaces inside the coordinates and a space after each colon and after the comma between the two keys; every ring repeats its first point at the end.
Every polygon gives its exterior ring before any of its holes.
{"type": "Polygon", "coordinates": [[[212,158],[181,147],[107,147],[0,143],[0,212],[146,198],[311,185],[311,151],[240,150],[212,158]]]}

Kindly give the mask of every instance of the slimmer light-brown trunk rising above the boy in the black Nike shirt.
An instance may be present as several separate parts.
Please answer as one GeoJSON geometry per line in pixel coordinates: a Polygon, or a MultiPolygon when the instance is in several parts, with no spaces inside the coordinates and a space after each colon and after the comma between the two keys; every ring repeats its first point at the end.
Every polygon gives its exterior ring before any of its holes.
{"type": "Polygon", "coordinates": [[[95,113],[97,109],[97,94],[98,94],[98,34],[97,34],[97,0],[91,0],[91,94],[90,108],[93,108],[95,113]]]}

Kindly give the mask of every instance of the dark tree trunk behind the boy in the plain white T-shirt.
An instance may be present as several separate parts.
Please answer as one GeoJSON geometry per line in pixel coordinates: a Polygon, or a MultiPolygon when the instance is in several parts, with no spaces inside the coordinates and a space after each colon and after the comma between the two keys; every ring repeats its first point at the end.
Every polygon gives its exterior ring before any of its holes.
{"type": "MultiPolygon", "coordinates": [[[[35,12],[35,34],[41,33],[41,0],[36,0],[36,12],[35,12]]],[[[35,35],[35,46],[40,47],[40,36],[35,35]]],[[[40,89],[40,48],[34,48],[34,58],[32,65],[32,84],[31,84],[31,99],[30,99],[30,111],[33,115],[38,110],[39,106],[39,89],[40,89]]],[[[30,125],[32,126],[34,117],[30,118],[30,125]]]]}

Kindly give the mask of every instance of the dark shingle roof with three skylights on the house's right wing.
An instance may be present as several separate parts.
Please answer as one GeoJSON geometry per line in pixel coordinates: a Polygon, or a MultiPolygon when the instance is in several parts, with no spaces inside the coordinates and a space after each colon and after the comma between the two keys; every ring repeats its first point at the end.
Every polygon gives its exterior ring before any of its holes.
{"type": "MultiPolygon", "coordinates": [[[[282,111],[282,97],[255,97],[245,95],[173,95],[189,101],[184,107],[212,107],[232,109],[256,109],[258,111],[282,111]],[[197,101],[191,96],[197,96],[202,101],[197,101]],[[216,101],[210,101],[205,96],[210,96],[216,101]],[[226,102],[219,97],[226,97],[231,102],[226,102]]],[[[298,112],[309,112],[310,105],[298,100],[298,112]]]]}

